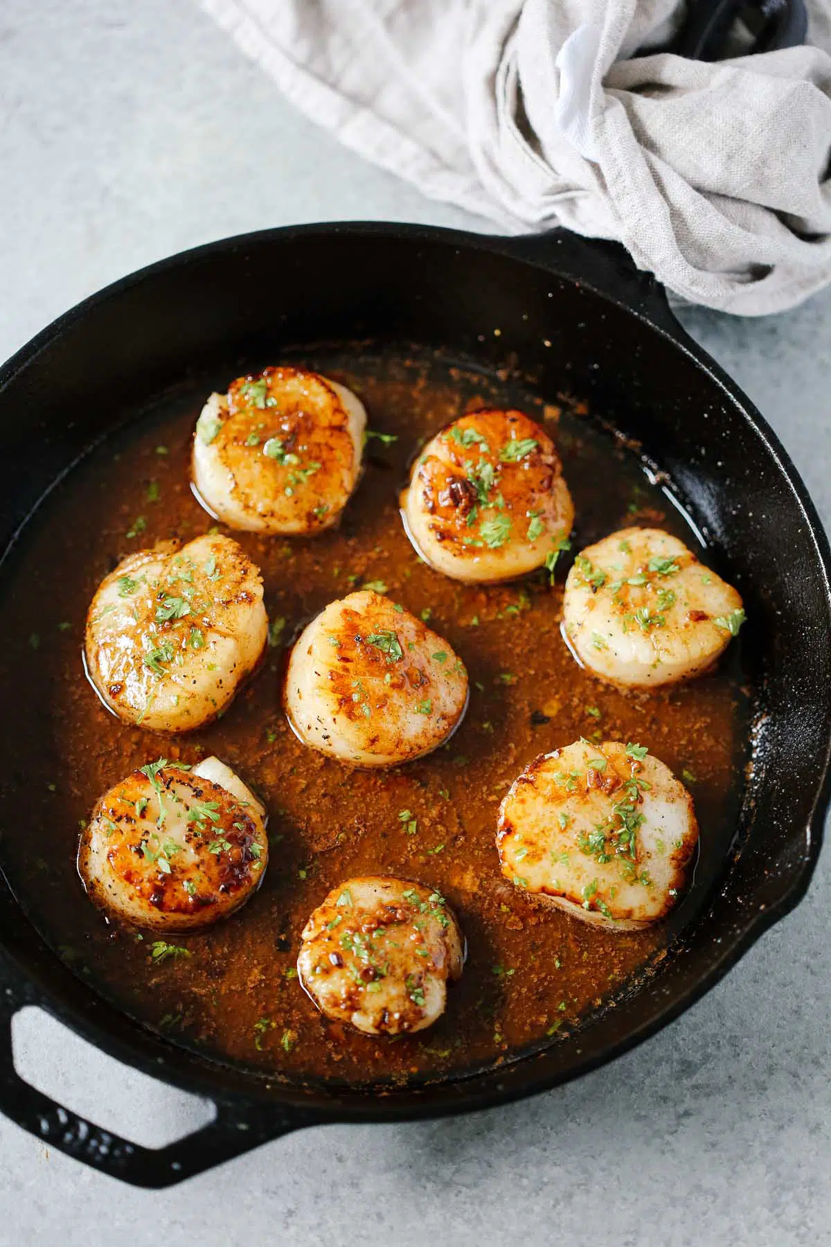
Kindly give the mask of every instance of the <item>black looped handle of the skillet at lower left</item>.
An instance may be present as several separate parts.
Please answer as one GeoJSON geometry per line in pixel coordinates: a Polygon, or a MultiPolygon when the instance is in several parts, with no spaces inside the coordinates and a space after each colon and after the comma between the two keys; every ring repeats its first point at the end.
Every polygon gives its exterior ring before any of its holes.
{"type": "Polygon", "coordinates": [[[71,1112],[20,1077],[14,1065],[11,1020],[24,1005],[45,1005],[6,959],[0,963],[0,1111],[44,1143],[108,1177],[153,1190],[174,1186],[321,1120],[274,1104],[247,1101],[240,1111],[233,1101],[216,1099],[217,1116],[192,1135],[166,1147],[131,1143],[71,1112]]]}

